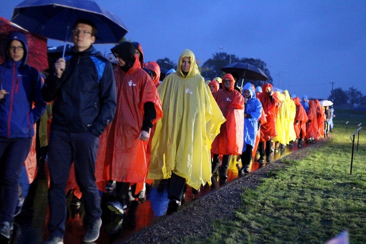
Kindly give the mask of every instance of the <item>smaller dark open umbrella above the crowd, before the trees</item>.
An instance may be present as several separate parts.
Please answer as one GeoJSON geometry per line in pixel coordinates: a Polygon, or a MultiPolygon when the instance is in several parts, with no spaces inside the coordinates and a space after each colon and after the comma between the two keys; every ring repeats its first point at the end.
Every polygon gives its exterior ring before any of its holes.
{"type": "Polygon", "coordinates": [[[244,79],[252,81],[268,80],[268,77],[264,74],[264,72],[260,68],[257,68],[253,64],[244,62],[229,63],[223,68],[221,68],[221,71],[224,71],[226,74],[228,73],[238,74],[238,78],[242,79],[242,88],[244,79]]]}

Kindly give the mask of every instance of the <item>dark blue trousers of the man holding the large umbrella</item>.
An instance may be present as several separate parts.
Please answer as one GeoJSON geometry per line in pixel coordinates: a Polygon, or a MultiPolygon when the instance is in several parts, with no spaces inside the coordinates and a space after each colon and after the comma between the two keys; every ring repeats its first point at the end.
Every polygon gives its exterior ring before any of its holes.
{"type": "Polygon", "coordinates": [[[48,144],[48,167],[51,183],[48,189],[50,234],[63,237],[66,227],[66,182],[72,162],[76,182],[82,192],[87,222],[102,215],[99,192],[95,183],[95,161],[99,138],[90,132],[71,133],[51,130],[48,144]]]}

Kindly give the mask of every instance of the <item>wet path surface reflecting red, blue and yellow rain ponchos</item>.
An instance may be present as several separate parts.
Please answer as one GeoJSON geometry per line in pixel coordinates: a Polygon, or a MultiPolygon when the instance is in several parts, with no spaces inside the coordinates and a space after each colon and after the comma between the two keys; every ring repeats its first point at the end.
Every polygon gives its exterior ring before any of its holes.
{"type": "MultiPolygon", "coordinates": [[[[306,144],[305,144],[306,145],[306,144]]],[[[305,146],[304,145],[304,146],[305,146]]],[[[298,150],[297,143],[288,145],[285,150],[272,154],[272,160],[277,160],[292,151],[298,150]]],[[[185,192],[185,201],[182,202],[181,210],[186,203],[195,201],[204,194],[218,189],[225,183],[238,178],[238,168],[242,166],[241,162],[236,161],[236,156],[230,158],[230,164],[227,171],[227,180],[220,181],[220,177],[214,177],[212,185],[201,187],[199,194],[192,194],[192,188],[187,187],[185,192]]],[[[265,166],[265,164],[264,164],[265,166]]],[[[252,161],[250,171],[255,171],[259,168],[259,163],[252,161]]],[[[37,177],[32,183],[28,184],[26,180],[25,170],[22,172],[21,185],[23,195],[26,196],[22,212],[15,217],[14,230],[9,243],[19,244],[39,244],[42,243],[48,236],[47,221],[48,221],[48,206],[47,206],[47,179],[37,177]]],[[[151,185],[146,187],[145,201],[132,201],[129,203],[127,213],[123,218],[111,213],[106,203],[113,198],[111,193],[101,193],[101,205],[103,209],[102,228],[99,239],[96,243],[113,243],[121,242],[139,229],[154,224],[163,215],[166,215],[168,207],[167,198],[167,180],[153,181],[151,185]]],[[[71,194],[72,195],[72,194],[71,194]]],[[[68,203],[71,202],[72,196],[67,198],[68,203]]],[[[69,206],[69,204],[68,204],[69,206]]],[[[67,226],[64,236],[64,243],[82,243],[84,235],[83,216],[84,209],[81,200],[80,207],[68,207],[67,209],[67,226]]],[[[0,243],[6,243],[0,239],[0,243]]]]}

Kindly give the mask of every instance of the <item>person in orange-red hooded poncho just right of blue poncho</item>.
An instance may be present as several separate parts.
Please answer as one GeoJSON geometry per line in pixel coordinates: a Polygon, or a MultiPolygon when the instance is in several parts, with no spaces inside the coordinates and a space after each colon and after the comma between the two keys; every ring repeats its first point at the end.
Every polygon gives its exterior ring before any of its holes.
{"type": "Polygon", "coordinates": [[[258,95],[258,99],[262,103],[267,122],[261,125],[261,140],[258,145],[259,153],[261,156],[259,161],[261,164],[264,162],[264,154],[266,156],[266,162],[271,162],[271,139],[277,135],[276,120],[278,109],[281,104],[277,94],[273,92],[272,84],[264,83],[262,85],[262,90],[263,92],[258,95]]]}

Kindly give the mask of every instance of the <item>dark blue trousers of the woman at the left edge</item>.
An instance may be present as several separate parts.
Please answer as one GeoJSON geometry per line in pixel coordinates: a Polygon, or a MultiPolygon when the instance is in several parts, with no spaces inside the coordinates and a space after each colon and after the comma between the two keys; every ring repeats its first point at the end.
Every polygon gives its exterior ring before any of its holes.
{"type": "Polygon", "coordinates": [[[19,175],[31,144],[32,138],[0,137],[0,223],[14,221],[19,175]]]}

